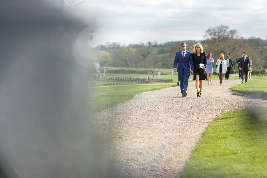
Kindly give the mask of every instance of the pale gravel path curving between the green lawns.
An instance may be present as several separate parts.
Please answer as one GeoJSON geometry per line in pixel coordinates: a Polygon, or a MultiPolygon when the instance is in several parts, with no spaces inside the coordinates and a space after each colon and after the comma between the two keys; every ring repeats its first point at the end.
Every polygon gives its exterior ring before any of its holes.
{"type": "Polygon", "coordinates": [[[180,86],[165,88],[140,93],[97,113],[93,118],[102,135],[101,147],[107,149],[107,177],[180,177],[202,132],[215,117],[267,106],[267,100],[229,89],[239,83],[223,80],[220,85],[215,80],[208,85],[204,81],[199,98],[195,82],[189,82],[185,98],[180,86]]]}

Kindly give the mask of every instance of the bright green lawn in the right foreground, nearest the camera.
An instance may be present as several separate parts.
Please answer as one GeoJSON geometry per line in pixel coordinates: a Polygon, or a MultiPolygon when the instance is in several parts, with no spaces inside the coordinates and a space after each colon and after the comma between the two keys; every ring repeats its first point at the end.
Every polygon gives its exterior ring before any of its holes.
{"type": "Polygon", "coordinates": [[[196,145],[182,177],[267,177],[266,115],[263,107],[215,118],[196,145]]]}

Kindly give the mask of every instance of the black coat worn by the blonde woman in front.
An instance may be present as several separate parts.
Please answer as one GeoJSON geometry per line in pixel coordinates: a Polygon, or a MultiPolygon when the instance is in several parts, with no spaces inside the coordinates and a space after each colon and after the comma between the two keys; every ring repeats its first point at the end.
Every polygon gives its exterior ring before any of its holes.
{"type": "Polygon", "coordinates": [[[204,63],[204,66],[207,66],[207,55],[205,52],[200,54],[199,60],[198,60],[198,55],[196,53],[192,53],[193,56],[193,61],[194,61],[194,78],[193,80],[196,80],[196,73],[198,71],[198,77],[199,80],[206,80],[205,79],[205,69],[198,69],[198,64],[204,63]]]}

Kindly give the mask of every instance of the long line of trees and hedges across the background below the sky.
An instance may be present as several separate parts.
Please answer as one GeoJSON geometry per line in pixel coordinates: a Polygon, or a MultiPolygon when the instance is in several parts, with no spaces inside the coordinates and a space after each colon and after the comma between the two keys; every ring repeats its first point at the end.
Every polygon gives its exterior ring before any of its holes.
{"type": "MultiPolygon", "coordinates": [[[[166,43],[147,42],[146,44],[121,45],[107,42],[98,45],[92,51],[93,61],[99,62],[101,67],[134,67],[134,68],[162,68],[173,67],[175,53],[181,50],[184,41],[166,43]]],[[[187,50],[193,52],[193,45],[198,41],[187,40],[187,50]]],[[[249,37],[244,39],[238,31],[229,30],[228,26],[217,26],[205,31],[204,40],[200,41],[206,53],[212,53],[217,60],[220,53],[230,55],[233,62],[240,58],[243,51],[252,59],[252,69],[267,68],[267,39],[249,37]]],[[[237,64],[235,63],[237,66],[237,64]]],[[[236,67],[237,68],[237,67],[236,67]]]]}

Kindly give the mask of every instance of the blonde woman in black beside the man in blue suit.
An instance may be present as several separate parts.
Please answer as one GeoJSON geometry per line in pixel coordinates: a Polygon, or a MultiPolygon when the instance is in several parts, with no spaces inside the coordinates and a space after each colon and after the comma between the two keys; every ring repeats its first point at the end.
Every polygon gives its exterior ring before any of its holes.
{"type": "Polygon", "coordinates": [[[201,90],[203,86],[202,80],[205,79],[205,68],[207,66],[207,56],[203,51],[203,46],[198,42],[193,48],[193,61],[194,61],[194,80],[196,80],[197,96],[201,97],[201,90]],[[203,66],[202,66],[203,65],[203,66]]]}

